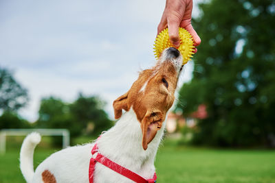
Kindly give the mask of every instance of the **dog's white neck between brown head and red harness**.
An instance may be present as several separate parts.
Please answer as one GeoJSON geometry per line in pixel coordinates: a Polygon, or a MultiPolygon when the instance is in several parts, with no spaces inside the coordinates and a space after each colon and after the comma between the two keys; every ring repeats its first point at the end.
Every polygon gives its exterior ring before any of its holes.
{"type": "Polygon", "coordinates": [[[155,171],[154,160],[164,134],[164,126],[165,122],[145,151],[142,148],[140,122],[137,121],[136,114],[131,109],[125,112],[110,130],[102,134],[98,139],[98,149],[100,154],[123,167],[142,173],[144,177],[150,177],[152,171],[155,171]],[[144,169],[148,172],[144,172],[144,169]]]}

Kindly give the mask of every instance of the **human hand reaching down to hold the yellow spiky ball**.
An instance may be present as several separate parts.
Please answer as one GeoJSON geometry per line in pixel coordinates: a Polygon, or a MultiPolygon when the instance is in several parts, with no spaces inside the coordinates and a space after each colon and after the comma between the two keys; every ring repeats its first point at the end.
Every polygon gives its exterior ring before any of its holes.
{"type": "MultiPolygon", "coordinates": [[[[183,27],[191,34],[194,46],[199,46],[201,38],[199,38],[191,25],[192,8],[192,0],[166,0],[164,13],[157,27],[157,34],[168,27],[170,42],[175,47],[179,47],[179,27],[183,27]]],[[[197,49],[194,52],[196,53],[197,49]]]]}

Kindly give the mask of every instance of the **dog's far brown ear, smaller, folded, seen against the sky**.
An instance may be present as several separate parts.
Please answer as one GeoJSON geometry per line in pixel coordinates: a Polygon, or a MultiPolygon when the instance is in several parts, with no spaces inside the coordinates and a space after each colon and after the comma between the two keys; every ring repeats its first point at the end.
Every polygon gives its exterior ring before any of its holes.
{"type": "Polygon", "coordinates": [[[128,111],[129,103],[128,103],[128,93],[121,95],[118,99],[113,101],[113,111],[115,112],[115,119],[119,119],[122,115],[122,109],[128,111]]]}

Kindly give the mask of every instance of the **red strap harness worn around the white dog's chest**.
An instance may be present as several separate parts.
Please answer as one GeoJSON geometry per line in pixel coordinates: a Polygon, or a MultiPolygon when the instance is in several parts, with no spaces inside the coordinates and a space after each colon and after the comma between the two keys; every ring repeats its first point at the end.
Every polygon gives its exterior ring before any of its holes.
{"type": "Polygon", "coordinates": [[[133,171],[126,169],[125,167],[120,166],[120,164],[117,164],[107,158],[106,156],[103,156],[98,152],[98,144],[96,143],[91,149],[91,154],[96,154],[96,158],[91,157],[90,165],[89,165],[89,183],[94,183],[94,171],[96,168],[96,162],[100,162],[104,166],[108,167],[109,169],[112,169],[113,171],[120,173],[121,175],[124,175],[126,178],[129,178],[137,183],[154,183],[157,182],[157,175],[154,173],[152,179],[144,179],[142,176],[137,175],[137,173],[134,173],[133,171]]]}

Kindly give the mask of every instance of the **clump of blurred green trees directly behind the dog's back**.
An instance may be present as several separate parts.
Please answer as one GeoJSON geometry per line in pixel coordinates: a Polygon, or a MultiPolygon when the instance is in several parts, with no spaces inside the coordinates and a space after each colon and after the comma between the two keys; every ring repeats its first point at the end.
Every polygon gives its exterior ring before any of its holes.
{"type": "MultiPolygon", "coordinates": [[[[73,138],[91,132],[97,136],[111,126],[103,106],[104,102],[98,97],[84,97],[82,94],[73,103],[65,103],[56,97],[43,98],[37,127],[66,128],[73,138]],[[89,126],[93,128],[87,130],[89,126]]],[[[55,145],[61,144],[61,139],[54,139],[55,145]]]]}

